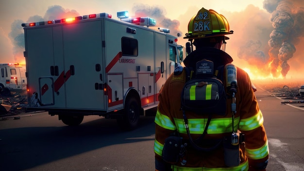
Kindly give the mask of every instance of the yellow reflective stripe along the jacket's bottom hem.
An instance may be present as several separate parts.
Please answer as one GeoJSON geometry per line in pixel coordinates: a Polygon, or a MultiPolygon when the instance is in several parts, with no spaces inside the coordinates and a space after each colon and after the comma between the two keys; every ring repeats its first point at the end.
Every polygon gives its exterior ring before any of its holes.
{"type": "Polygon", "coordinates": [[[229,168],[186,168],[173,165],[173,171],[248,171],[248,160],[235,167],[229,168]]]}

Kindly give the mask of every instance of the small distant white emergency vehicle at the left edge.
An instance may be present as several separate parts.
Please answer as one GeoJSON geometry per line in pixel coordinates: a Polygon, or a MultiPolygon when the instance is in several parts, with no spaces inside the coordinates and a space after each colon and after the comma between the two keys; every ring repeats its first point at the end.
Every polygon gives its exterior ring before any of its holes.
{"type": "Polygon", "coordinates": [[[26,69],[18,63],[0,64],[0,89],[26,89],[26,69]]]}

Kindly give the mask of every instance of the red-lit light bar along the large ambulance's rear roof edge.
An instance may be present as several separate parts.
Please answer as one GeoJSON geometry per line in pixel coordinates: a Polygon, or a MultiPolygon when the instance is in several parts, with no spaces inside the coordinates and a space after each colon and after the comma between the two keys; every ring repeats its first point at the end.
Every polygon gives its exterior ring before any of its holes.
{"type": "Polygon", "coordinates": [[[74,21],[82,20],[82,19],[92,19],[92,18],[101,18],[101,17],[112,18],[112,15],[107,14],[107,13],[91,14],[91,15],[79,16],[79,17],[54,19],[54,20],[50,20],[50,21],[40,21],[40,22],[33,22],[33,23],[22,23],[21,26],[22,27],[43,26],[43,25],[48,25],[48,24],[68,23],[68,22],[74,22],[74,21]]]}

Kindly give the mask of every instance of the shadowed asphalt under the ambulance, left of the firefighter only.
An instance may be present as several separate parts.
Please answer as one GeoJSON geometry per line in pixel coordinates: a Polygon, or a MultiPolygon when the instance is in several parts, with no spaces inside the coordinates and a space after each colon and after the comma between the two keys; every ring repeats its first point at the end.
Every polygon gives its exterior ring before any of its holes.
{"type": "Polygon", "coordinates": [[[153,117],[122,132],[116,120],[84,117],[77,127],[46,112],[0,120],[0,171],[148,171],[154,168],[153,117]]]}

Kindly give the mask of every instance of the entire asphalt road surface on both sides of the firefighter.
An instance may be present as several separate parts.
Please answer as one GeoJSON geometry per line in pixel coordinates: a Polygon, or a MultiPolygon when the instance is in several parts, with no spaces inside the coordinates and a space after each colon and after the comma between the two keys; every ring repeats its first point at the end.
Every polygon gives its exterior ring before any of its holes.
{"type": "MultiPolygon", "coordinates": [[[[268,171],[304,171],[304,111],[258,87],[269,138],[268,171]]],[[[86,116],[69,127],[46,112],[0,118],[0,171],[154,171],[154,117],[122,132],[116,120],[86,116]]]]}

